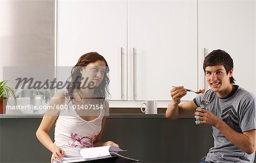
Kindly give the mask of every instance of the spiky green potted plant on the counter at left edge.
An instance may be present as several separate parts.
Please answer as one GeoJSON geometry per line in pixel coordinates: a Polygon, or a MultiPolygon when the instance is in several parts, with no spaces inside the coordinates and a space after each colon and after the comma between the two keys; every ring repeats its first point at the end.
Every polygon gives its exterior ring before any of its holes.
{"type": "Polygon", "coordinates": [[[8,81],[10,80],[3,80],[0,82],[0,114],[5,114],[6,103],[7,101],[9,102],[11,96],[16,100],[14,89],[6,85],[8,81]]]}

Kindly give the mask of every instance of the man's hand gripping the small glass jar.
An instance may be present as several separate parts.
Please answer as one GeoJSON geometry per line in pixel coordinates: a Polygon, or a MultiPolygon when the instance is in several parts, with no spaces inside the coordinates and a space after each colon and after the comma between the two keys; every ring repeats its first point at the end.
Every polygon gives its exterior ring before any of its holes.
{"type": "Polygon", "coordinates": [[[221,121],[221,119],[218,118],[216,115],[212,114],[210,111],[205,110],[203,108],[197,108],[196,109],[195,118],[201,120],[199,122],[196,121],[196,125],[206,124],[206,125],[210,125],[210,126],[216,127],[218,122],[221,121]],[[203,112],[203,113],[201,113],[200,111],[203,112]]]}

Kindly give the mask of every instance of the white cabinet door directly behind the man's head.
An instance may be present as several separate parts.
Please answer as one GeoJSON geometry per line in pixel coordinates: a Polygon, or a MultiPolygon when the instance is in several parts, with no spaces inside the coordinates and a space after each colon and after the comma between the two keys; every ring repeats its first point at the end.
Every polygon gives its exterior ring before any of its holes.
{"type": "MultiPolygon", "coordinates": [[[[228,52],[234,62],[236,84],[254,94],[255,30],[254,0],[199,0],[199,55],[204,48],[206,53],[216,49],[228,52]]],[[[199,64],[203,65],[203,59],[199,64]]]]}

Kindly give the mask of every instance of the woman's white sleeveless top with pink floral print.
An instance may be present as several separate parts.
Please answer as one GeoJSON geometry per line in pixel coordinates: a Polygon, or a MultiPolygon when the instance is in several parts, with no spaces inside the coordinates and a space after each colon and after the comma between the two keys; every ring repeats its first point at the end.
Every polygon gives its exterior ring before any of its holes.
{"type": "MultiPolygon", "coordinates": [[[[73,105],[68,102],[66,105],[73,105]]],[[[86,111],[86,110],[85,110],[86,111]]],[[[55,124],[55,144],[63,149],[64,157],[81,157],[81,148],[93,147],[93,141],[101,131],[101,123],[105,110],[101,109],[100,116],[92,121],[85,121],[72,107],[64,109],[59,114],[55,124]]]]}

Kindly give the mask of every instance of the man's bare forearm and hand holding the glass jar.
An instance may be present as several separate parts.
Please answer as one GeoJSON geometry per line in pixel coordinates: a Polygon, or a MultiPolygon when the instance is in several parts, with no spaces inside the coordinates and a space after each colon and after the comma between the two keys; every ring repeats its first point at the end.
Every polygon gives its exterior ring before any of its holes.
{"type": "Polygon", "coordinates": [[[210,113],[210,111],[197,108],[196,111],[202,111],[195,113],[195,118],[200,119],[200,122],[196,121],[197,125],[207,124],[216,127],[230,142],[242,149],[248,154],[251,154],[256,149],[256,130],[245,131],[242,134],[233,130],[224,121],[218,118],[216,115],[210,113]],[[201,116],[201,117],[199,117],[201,116]]]}

